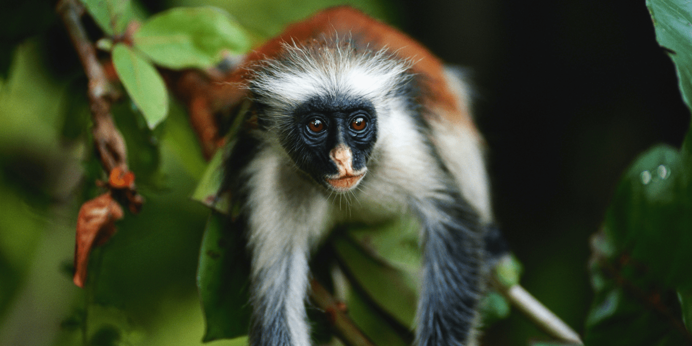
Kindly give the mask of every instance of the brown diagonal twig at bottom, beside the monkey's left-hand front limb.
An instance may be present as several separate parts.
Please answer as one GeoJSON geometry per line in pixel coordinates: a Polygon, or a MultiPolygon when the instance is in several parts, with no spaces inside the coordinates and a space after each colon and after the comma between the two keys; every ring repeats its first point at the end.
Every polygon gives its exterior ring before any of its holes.
{"type": "Polygon", "coordinates": [[[317,280],[312,280],[311,285],[310,298],[322,311],[325,311],[327,319],[343,343],[347,346],[374,346],[370,338],[367,338],[343,311],[343,305],[339,304],[322,284],[317,280]]]}

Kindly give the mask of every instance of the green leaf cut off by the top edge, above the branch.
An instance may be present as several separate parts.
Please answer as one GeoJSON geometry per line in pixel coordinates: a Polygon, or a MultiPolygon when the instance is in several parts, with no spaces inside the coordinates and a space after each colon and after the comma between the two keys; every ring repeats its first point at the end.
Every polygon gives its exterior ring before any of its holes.
{"type": "Polygon", "coordinates": [[[81,0],[96,24],[109,36],[125,31],[135,18],[130,0],[81,0]]]}

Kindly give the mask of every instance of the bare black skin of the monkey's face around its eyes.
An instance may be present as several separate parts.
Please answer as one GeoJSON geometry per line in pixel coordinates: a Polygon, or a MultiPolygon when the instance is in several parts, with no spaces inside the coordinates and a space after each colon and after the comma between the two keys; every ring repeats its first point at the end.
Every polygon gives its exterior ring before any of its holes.
{"type": "Polygon", "coordinates": [[[377,118],[370,102],[316,97],[296,107],[291,124],[282,129],[282,146],[293,162],[328,187],[325,176],[338,173],[329,158],[331,149],[340,143],[347,145],[353,155],[354,171],[363,169],[377,138],[377,118]]]}

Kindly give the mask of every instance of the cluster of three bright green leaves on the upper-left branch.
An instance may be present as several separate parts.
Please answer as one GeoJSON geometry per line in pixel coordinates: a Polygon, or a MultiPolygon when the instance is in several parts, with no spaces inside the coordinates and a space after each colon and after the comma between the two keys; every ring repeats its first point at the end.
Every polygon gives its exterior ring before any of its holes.
{"type": "Polygon", "coordinates": [[[128,37],[132,33],[127,32],[127,26],[138,18],[136,12],[141,12],[130,0],[83,3],[108,36],[98,40],[97,46],[111,51],[118,78],[149,129],[165,120],[168,113],[165,83],[149,60],[169,69],[208,69],[224,54],[244,53],[249,48],[242,28],[216,8],[172,8],[147,19],[128,37]],[[129,39],[131,45],[125,43],[129,39]]]}

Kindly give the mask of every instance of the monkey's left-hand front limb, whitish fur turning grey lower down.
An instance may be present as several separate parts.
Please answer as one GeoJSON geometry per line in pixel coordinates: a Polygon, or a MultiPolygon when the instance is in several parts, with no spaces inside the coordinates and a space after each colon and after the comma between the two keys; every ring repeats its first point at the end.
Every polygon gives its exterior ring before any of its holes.
{"type": "Polygon", "coordinates": [[[324,232],[329,204],[293,176],[272,149],[241,174],[251,251],[252,346],[309,346],[305,316],[311,242],[324,232]]]}

